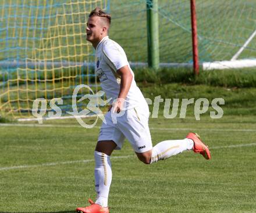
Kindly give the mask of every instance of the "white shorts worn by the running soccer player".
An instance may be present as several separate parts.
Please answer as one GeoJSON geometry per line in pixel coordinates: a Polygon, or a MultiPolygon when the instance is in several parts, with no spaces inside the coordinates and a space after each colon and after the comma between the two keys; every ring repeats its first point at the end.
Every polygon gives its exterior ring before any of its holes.
{"type": "Polygon", "coordinates": [[[111,111],[105,114],[106,124],[102,122],[98,141],[113,140],[117,145],[116,149],[122,149],[123,142],[127,138],[137,153],[151,150],[152,141],[150,128],[148,127],[148,106],[145,109],[134,107],[120,113],[123,115],[116,117],[116,119],[113,118],[115,114],[111,113],[111,111]]]}

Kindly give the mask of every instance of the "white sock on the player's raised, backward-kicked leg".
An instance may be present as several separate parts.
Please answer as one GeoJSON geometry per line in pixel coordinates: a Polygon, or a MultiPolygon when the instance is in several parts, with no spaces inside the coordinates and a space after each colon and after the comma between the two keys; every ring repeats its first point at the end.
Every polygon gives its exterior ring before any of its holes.
{"type": "Polygon", "coordinates": [[[155,163],[159,160],[165,160],[170,156],[182,153],[184,150],[191,150],[194,146],[194,142],[191,139],[185,138],[184,140],[165,140],[152,149],[151,162],[155,163]]]}

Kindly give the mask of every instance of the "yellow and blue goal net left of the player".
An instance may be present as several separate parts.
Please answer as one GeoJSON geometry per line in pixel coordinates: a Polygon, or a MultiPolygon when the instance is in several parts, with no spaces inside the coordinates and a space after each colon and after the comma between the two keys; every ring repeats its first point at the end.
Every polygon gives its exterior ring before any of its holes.
{"type": "MultiPolygon", "coordinates": [[[[88,14],[106,0],[2,0],[0,3],[0,113],[29,118],[37,98],[62,98],[72,111],[74,87],[97,89],[86,41],[88,14]]],[[[50,110],[47,107],[47,110],[50,110]]]]}

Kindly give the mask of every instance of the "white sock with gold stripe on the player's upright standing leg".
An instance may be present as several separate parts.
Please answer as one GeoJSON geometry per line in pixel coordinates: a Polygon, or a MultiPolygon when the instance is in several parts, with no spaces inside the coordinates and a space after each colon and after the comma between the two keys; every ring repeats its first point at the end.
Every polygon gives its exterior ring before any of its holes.
{"type": "Polygon", "coordinates": [[[94,158],[95,190],[97,192],[97,200],[95,203],[102,207],[108,207],[108,193],[112,180],[110,156],[94,151],[94,158]]]}

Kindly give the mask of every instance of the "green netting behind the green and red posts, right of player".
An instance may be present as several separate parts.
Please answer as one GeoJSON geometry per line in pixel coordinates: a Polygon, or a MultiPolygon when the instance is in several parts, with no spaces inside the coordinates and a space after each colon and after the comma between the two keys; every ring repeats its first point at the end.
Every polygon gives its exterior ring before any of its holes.
{"type": "MultiPolygon", "coordinates": [[[[135,65],[147,63],[147,7],[151,1],[111,0],[111,37],[135,65]]],[[[200,64],[204,68],[256,66],[256,1],[195,0],[200,64]],[[218,66],[219,64],[219,66],[218,66]]],[[[189,0],[159,0],[160,66],[193,62],[189,0]]]]}

